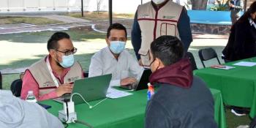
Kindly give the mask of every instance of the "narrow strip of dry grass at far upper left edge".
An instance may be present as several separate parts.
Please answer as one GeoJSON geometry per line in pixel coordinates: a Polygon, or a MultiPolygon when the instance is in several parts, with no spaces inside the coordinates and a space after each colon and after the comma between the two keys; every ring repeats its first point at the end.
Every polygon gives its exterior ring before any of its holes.
{"type": "Polygon", "coordinates": [[[46,24],[55,24],[55,23],[63,23],[63,22],[58,20],[50,20],[48,18],[0,16],[0,25],[11,24],[11,23],[28,23],[28,24],[34,24],[34,25],[46,25],[46,24]]]}

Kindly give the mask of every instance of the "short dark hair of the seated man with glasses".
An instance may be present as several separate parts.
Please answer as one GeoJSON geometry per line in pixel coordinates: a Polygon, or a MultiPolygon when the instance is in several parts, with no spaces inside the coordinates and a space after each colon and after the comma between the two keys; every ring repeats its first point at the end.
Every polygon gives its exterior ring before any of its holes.
{"type": "Polygon", "coordinates": [[[58,49],[59,48],[58,41],[61,39],[70,39],[69,34],[67,34],[66,32],[61,32],[61,31],[54,33],[48,40],[47,49],[48,50],[58,49]]]}

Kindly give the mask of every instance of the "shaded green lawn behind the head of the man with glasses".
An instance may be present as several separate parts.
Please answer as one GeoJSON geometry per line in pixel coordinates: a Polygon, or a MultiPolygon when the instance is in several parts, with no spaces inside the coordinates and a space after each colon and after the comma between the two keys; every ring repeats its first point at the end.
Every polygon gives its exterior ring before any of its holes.
{"type": "MultiPolygon", "coordinates": [[[[17,45],[33,45],[34,43],[42,44],[42,46],[45,48],[44,52],[42,54],[37,54],[33,58],[27,58],[27,59],[15,59],[15,61],[11,61],[8,64],[1,64],[0,63],[0,69],[6,69],[6,68],[20,68],[20,67],[29,67],[29,65],[33,64],[34,62],[38,61],[39,59],[42,59],[47,54],[46,50],[46,42],[48,41],[49,37],[54,33],[55,31],[42,31],[42,32],[31,32],[31,33],[21,33],[21,34],[4,34],[0,35],[0,42],[1,41],[7,41],[7,42],[15,42],[17,45]],[[21,44],[22,43],[22,44],[21,44]],[[44,45],[45,44],[45,45],[44,45]]],[[[105,39],[105,34],[98,33],[95,31],[91,31],[91,28],[89,26],[87,27],[78,27],[74,29],[69,29],[67,31],[67,34],[72,38],[73,42],[91,42],[91,40],[103,40],[105,39]]],[[[91,42],[94,43],[94,42],[91,42]]],[[[104,44],[105,45],[105,44],[104,44]]],[[[14,48],[15,46],[11,47],[14,48]]],[[[83,51],[83,49],[79,48],[78,51],[83,51]]],[[[23,50],[31,50],[31,52],[38,52],[37,49],[39,47],[31,46],[31,48],[23,47],[18,48],[19,52],[23,52],[23,50]]],[[[43,48],[40,48],[40,50],[43,48]]],[[[10,52],[10,50],[2,50],[4,53],[10,52]]],[[[91,53],[78,53],[75,55],[76,59],[80,61],[80,63],[83,66],[83,69],[88,70],[89,65],[86,64],[86,62],[89,62],[91,59],[92,54],[91,53]]],[[[2,56],[2,59],[5,59],[5,56],[2,56]]],[[[13,56],[14,57],[14,56],[13,56]]],[[[1,58],[1,56],[0,56],[1,58]]],[[[9,59],[7,57],[7,59],[9,59]]]]}

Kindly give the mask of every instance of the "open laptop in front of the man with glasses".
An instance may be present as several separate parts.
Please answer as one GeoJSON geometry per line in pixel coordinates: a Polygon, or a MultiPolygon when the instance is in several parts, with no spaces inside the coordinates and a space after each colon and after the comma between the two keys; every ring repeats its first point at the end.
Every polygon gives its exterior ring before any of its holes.
{"type": "MultiPolygon", "coordinates": [[[[79,80],[75,80],[74,87],[72,90],[72,94],[78,93],[86,99],[86,102],[103,99],[106,97],[108,86],[110,84],[112,75],[100,75],[92,78],[83,78],[79,80]]],[[[64,97],[59,97],[55,100],[56,102],[64,102],[64,99],[70,99],[71,94],[65,94],[64,97]]],[[[75,105],[84,103],[83,99],[74,95],[72,97],[72,101],[75,102],[75,105]]]]}

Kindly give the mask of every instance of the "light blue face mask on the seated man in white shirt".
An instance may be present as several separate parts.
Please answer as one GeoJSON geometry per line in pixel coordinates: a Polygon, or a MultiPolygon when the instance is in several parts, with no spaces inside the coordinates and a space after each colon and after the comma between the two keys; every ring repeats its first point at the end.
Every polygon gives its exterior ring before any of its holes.
{"type": "Polygon", "coordinates": [[[125,42],[122,41],[111,41],[110,42],[110,50],[115,53],[121,53],[125,48],[125,42]]]}

